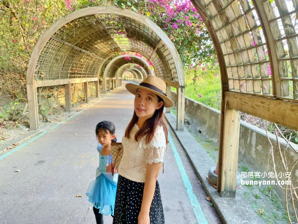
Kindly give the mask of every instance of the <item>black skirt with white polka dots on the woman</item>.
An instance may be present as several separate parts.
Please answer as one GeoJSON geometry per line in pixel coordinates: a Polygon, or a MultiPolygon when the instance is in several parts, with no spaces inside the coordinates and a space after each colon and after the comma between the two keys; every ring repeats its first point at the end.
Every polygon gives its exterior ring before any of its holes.
{"type": "MultiPolygon", "coordinates": [[[[138,223],[145,183],[135,182],[119,175],[113,224],[138,223]]],[[[150,207],[150,224],[164,224],[164,211],[156,180],[150,207]]]]}

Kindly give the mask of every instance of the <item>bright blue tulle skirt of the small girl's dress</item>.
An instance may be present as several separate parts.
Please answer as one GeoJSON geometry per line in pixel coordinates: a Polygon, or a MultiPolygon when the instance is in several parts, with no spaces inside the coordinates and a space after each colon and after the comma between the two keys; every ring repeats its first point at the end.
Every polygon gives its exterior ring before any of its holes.
{"type": "MultiPolygon", "coordinates": [[[[114,175],[115,176],[115,175],[114,175]]],[[[88,187],[86,195],[99,213],[103,215],[114,214],[117,185],[104,174],[100,174],[88,187]]]]}

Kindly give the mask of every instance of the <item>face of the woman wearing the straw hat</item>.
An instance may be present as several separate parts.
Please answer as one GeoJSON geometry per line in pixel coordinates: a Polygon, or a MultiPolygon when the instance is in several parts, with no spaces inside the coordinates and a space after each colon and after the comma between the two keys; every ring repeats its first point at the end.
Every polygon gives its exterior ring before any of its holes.
{"type": "Polygon", "coordinates": [[[158,110],[163,102],[158,102],[156,94],[145,90],[138,89],[134,98],[134,110],[139,118],[148,119],[153,116],[155,110],[158,110]]]}

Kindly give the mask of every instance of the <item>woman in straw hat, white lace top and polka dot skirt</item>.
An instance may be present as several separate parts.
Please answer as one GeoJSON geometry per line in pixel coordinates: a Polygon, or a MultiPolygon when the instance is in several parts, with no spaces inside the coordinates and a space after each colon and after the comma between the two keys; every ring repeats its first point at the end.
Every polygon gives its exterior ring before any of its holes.
{"type": "Polygon", "coordinates": [[[156,76],[125,87],[135,95],[134,115],[122,138],[113,223],[163,224],[157,177],[167,144],[163,109],[172,107],[173,102],[164,93],[166,85],[156,76]]]}

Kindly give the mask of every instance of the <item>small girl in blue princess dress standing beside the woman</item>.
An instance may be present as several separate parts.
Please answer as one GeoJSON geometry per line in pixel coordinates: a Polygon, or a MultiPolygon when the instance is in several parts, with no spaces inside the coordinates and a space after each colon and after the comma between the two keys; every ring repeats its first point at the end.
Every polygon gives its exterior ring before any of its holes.
{"type": "Polygon", "coordinates": [[[117,142],[115,125],[110,121],[99,122],[95,134],[100,143],[97,146],[99,167],[96,170],[96,179],[90,183],[86,195],[93,204],[96,223],[102,224],[103,215],[114,214],[118,174],[112,176],[107,166],[112,162],[111,142],[117,142]]]}

